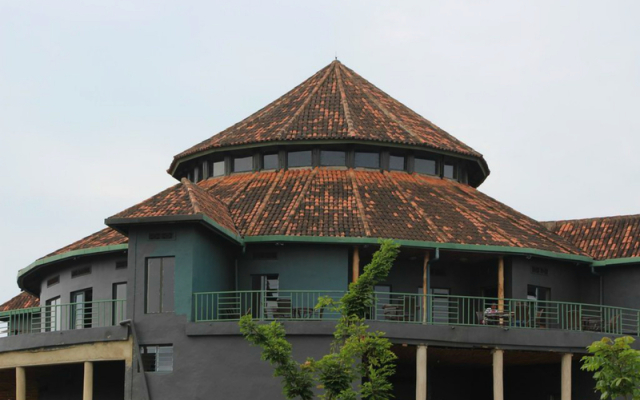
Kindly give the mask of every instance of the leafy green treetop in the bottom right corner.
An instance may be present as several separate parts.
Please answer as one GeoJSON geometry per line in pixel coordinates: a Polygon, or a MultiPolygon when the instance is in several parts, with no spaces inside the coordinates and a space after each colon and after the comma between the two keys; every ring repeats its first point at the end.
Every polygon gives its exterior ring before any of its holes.
{"type": "Polygon", "coordinates": [[[601,399],[640,399],[640,351],[631,348],[634,341],[630,336],[605,337],[587,347],[592,355],[582,357],[581,368],[595,372],[601,399]]]}

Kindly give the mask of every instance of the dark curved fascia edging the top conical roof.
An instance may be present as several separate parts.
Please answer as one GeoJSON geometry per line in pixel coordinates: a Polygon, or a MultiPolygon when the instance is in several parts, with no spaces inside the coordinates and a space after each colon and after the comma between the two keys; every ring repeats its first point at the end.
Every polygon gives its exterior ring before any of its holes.
{"type": "MultiPolygon", "coordinates": [[[[382,146],[382,147],[391,147],[394,149],[406,149],[406,150],[415,150],[417,148],[431,151],[436,154],[442,154],[446,156],[463,158],[465,160],[476,161],[482,170],[485,178],[489,176],[490,170],[487,161],[484,157],[474,157],[467,154],[456,153],[454,151],[446,151],[439,150],[428,146],[420,146],[420,145],[409,145],[409,144],[400,144],[400,143],[388,143],[388,142],[380,142],[375,140],[332,140],[332,139],[320,139],[320,140],[292,140],[292,141],[273,141],[273,142],[257,142],[257,143],[248,143],[236,146],[224,146],[224,147],[214,147],[212,149],[207,149],[201,152],[196,152],[194,154],[181,157],[179,159],[174,159],[175,165],[173,168],[169,169],[167,172],[171,176],[175,175],[176,171],[180,164],[185,161],[193,160],[195,158],[199,158],[202,156],[206,156],[208,154],[220,153],[224,151],[233,151],[233,150],[244,150],[244,149],[253,149],[256,147],[268,147],[268,146],[299,146],[299,145],[319,145],[319,144],[364,144],[364,145],[372,145],[372,146],[382,146]]],[[[173,165],[173,163],[172,163],[173,165]]],[[[482,183],[482,182],[481,182],[482,183]]]]}

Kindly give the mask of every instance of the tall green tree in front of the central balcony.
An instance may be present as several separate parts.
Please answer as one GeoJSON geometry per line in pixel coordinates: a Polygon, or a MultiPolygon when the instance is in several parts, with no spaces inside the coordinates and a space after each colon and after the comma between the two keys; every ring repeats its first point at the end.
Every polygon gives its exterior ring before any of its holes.
{"type": "Polygon", "coordinates": [[[387,400],[393,397],[389,378],[395,373],[396,355],[383,332],[370,332],[365,316],[373,306],[374,286],[386,279],[398,256],[399,246],[381,240],[362,275],[349,285],[339,300],[318,300],[316,309],[328,308],[340,314],[329,354],[320,360],[308,358],[299,364],[291,355],[291,343],[282,324],[257,324],[251,315],[240,319],[240,331],[255,346],[262,348],[262,359],[275,367],[274,376],[282,378],[287,399],[313,398],[313,388],[322,390],[325,400],[387,400]],[[356,382],[364,382],[354,385],[356,382]]]}

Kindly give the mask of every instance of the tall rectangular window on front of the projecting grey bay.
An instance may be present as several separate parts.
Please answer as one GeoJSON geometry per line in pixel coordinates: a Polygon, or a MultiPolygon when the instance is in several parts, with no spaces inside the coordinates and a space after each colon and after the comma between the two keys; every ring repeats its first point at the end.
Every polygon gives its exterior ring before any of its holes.
{"type": "Polygon", "coordinates": [[[175,257],[147,259],[146,313],[173,312],[175,257]]]}

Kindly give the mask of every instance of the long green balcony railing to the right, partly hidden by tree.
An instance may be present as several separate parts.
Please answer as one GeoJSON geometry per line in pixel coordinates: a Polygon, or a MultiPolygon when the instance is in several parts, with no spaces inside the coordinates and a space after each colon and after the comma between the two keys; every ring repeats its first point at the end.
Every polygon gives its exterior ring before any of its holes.
{"type": "MultiPolygon", "coordinates": [[[[335,320],[316,309],[321,296],[339,300],[342,291],[268,290],[194,293],[196,322],[234,321],[250,314],[260,320],[335,320]]],[[[374,293],[367,318],[409,324],[559,329],[638,335],[640,310],[560,301],[489,297],[374,293]]]]}

